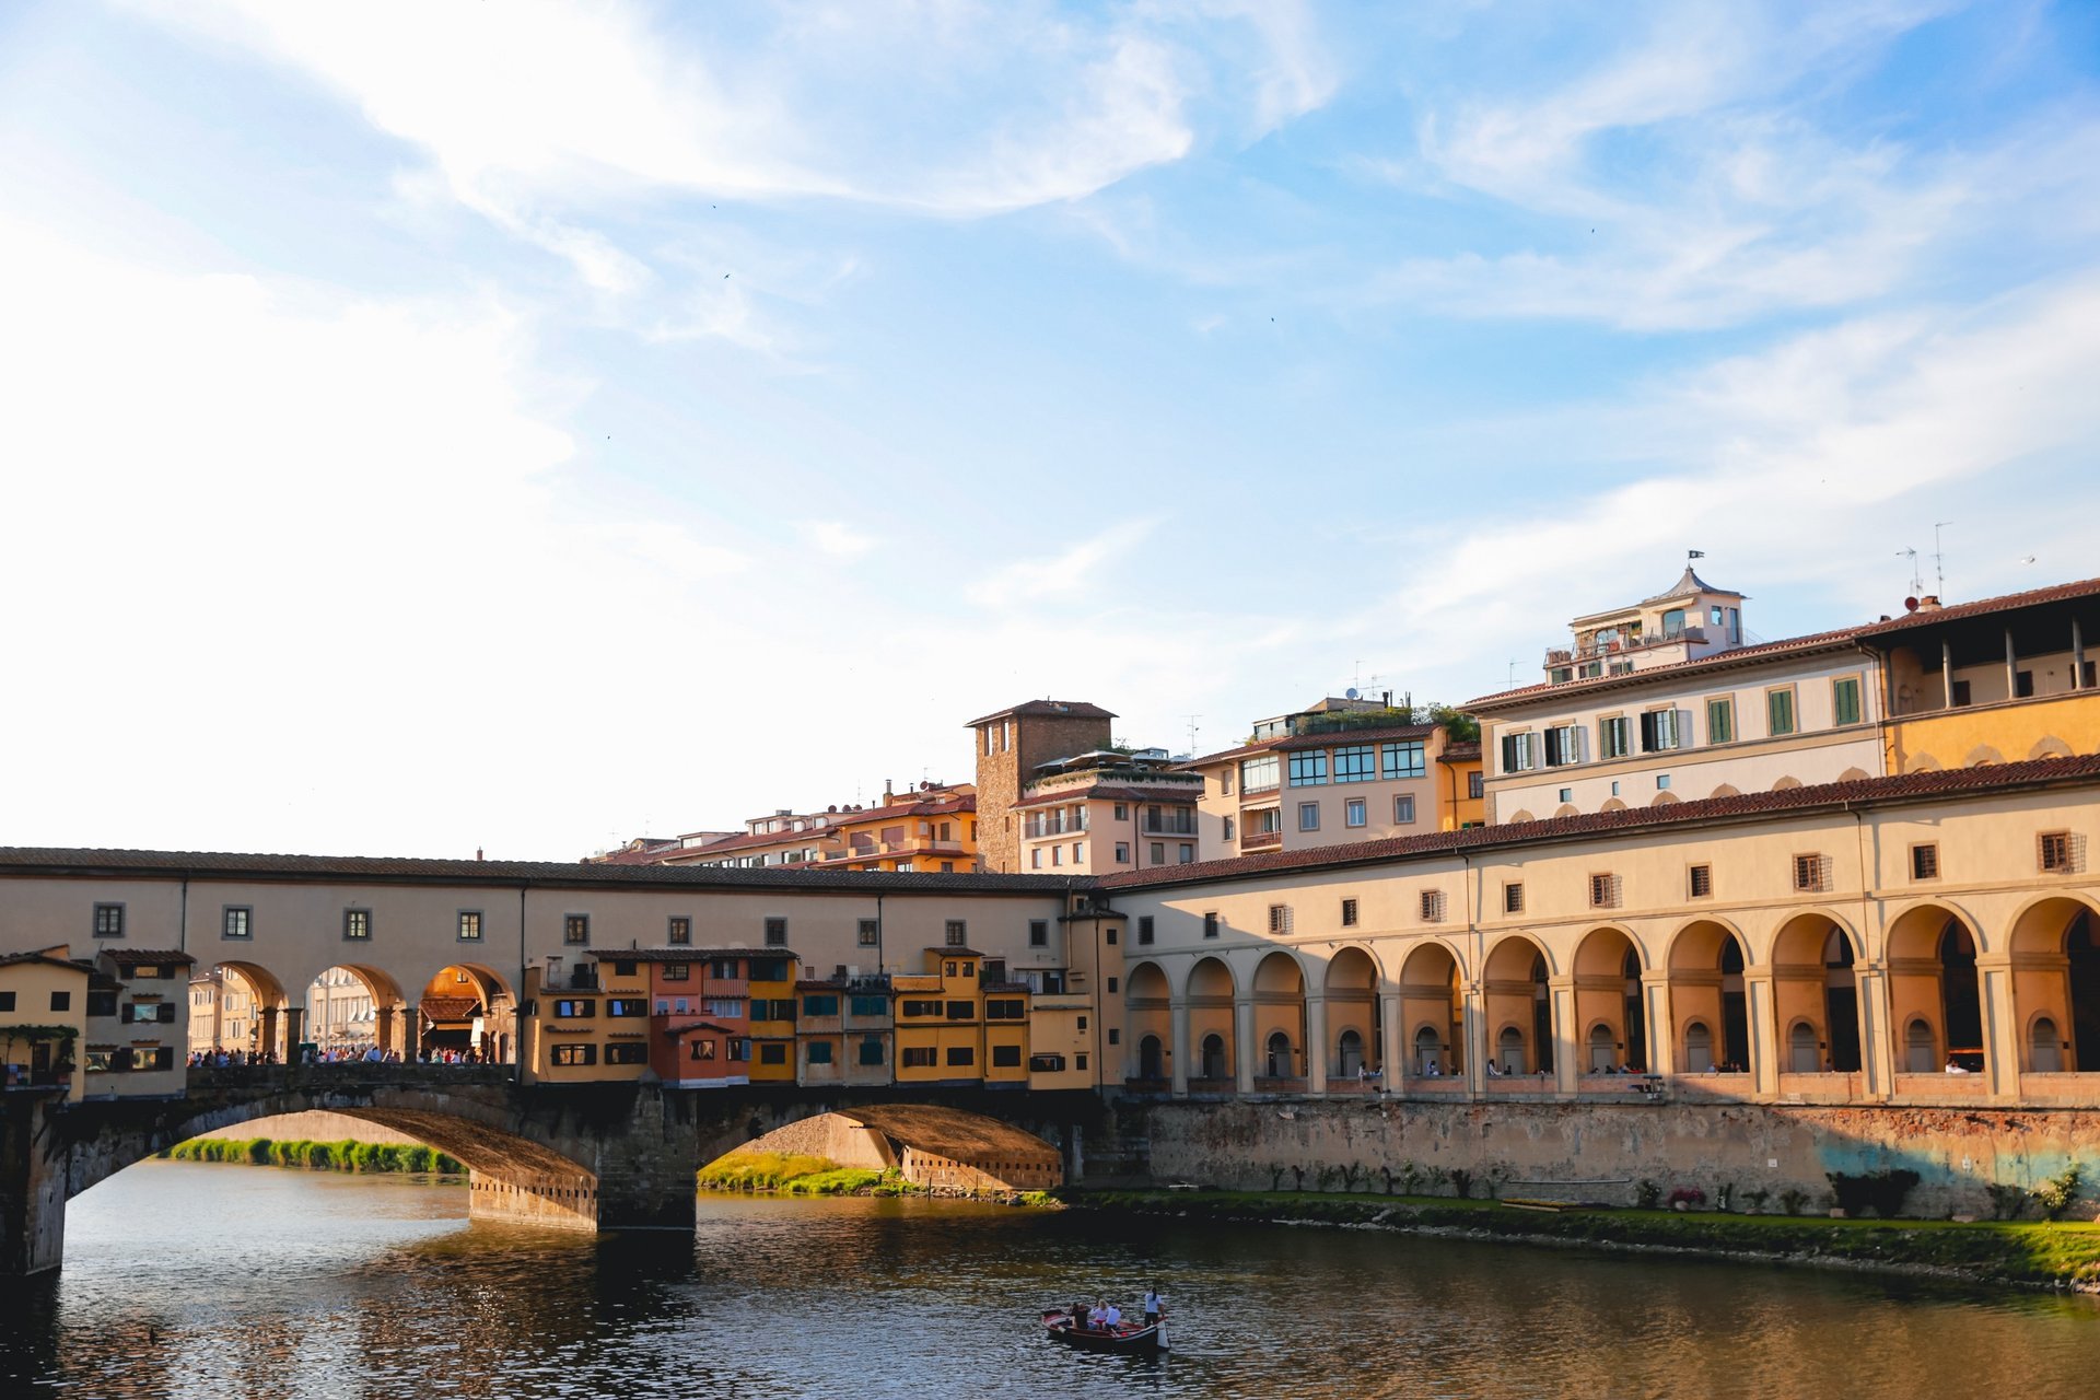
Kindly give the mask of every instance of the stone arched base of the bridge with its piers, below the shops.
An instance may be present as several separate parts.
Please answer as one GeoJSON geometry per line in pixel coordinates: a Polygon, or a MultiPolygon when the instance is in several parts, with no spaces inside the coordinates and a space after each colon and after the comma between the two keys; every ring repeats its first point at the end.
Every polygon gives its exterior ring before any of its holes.
{"type": "Polygon", "coordinates": [[[178,1098],[76,1104],[15,1089],[0,1096],[0,1276],[59,1266],[67,1199],[197,1133],[284,1112],[340,1112],[449,1152],[468,1167],[475,1217],[691,1230],[701,1165],[800,1119],[895,1104],[1021,1127],[1060,1150],[1069,1178],[1107,1121],[1088,1091],[519,1085],[502,1064],[200,1068],[178,1098]]]}

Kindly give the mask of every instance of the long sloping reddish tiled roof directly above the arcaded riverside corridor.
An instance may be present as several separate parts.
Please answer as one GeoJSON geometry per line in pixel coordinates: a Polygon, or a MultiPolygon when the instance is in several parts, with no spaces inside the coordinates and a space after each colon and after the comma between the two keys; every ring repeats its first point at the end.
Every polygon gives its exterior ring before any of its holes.
{"type": "Polygon", "coordinates": [[[1819,783],[1814,787],[1741,793],[1735,798],[1703,798],[1699,802],[1638,806],[1619,812],[1586,812],[1579,816],[1556,816],[1550,821],[1518,821],[1497,827],[1430,831],[1424,835],[1401,835],[1382,842],[1310,846],[1304,850],[1268,850],[1231,861],[1161,865],[1142,871],[1098,875],[1094,886],[1100,890],[1121,890],[1166,884],[1201,884],[1208,879],[1233,879],[1279,869],[1342,869],[1350,865],[1405,861],[1411,856],[1438,856],[1497,846],[1522,846],[1529,842],[1613,835],[1619,831],[1640,831],[1648,827],[1787,816],[1796,812],[1814,812],[1819,808],[1875,806],[1884,802],[1911,802],[1951,793],[2014,791],[2066,781],[2100,781],[2100,754],[2087,754],[2081,758],[2037,758],[2018,764],[1987,764],[1980,768],[1940,768],[1934,772],[1905,772],[1888,779],[1854,779],[1850,783],[1819,783]]]}

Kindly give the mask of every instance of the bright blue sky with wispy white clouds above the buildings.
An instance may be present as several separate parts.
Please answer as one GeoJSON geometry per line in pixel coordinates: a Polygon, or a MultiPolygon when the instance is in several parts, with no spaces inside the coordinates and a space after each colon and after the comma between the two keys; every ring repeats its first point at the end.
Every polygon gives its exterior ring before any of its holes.
{"type": "Polygon", "coordinates": [[[0,6],[0,844],[1210,751],[2096,575],[2096,447],[2090,2],[0,6]]]}

